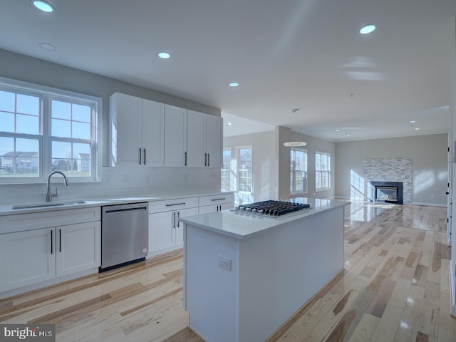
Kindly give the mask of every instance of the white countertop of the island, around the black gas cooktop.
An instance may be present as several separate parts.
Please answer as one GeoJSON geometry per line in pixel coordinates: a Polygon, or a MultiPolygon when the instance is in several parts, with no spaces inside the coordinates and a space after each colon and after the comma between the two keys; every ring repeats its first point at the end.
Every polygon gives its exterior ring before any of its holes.
{"type": "Polygon", "coordinates": [[[311,204],[311,209],[302,209],[298,212],[293,212],[280,217],[268,217],[249,214],[247,212],[223,210],[222,212],[210,212],[190,217],[181,217],[180,221],[236,239],[247,239],[256,234],[266,232],[269,229],[275,229],[289,224],[297,219],[311,217],[316,214],[321,214],[321,212],[325,212],[326,210],[350,204],[350,202],[346,201],[306,197],[293,199],[292,202],[309,203],[311,204]]]}

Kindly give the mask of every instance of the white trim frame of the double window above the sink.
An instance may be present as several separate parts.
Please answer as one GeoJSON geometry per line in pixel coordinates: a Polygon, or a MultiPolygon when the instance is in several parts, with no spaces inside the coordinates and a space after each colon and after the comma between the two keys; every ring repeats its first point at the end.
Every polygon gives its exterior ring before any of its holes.
{"type": "MultiPolygon", "coordinates": [[[[71,177],[71,182],[97,182],[100,181],[101,177],[101,166],[102,166],[102,113],[103,113],[103,98],[98,98],[93,95],[87,95],[83,93],[76,93],[69,90],[63,90],[58,88],[52,88],[48,86],[42,86],[36,83],[29,83],[24,81],[18,81],[11,78],[5,78],[0,76],[0,86],[4,88],[9,88],[12,91],[21,91],[26,93],[33,93],[34,95],[40,95],[40,98],[43,98],[43,95],[46,95],[47,100],[43,101],[43,106],[49,106],[51,98],[66,98],[67,100],[81,100],[84,98],[94,104],[94,124],[95,127],[92,127],[92,133],[95,134],[95,143],[92,146],[93,153],[93,169],[92,177],[71,177]],[[46,94],[43,94],[46,93],[46,94]]],[[[46,108],[43,108],[46,109],[46,108]]],[[[48,132],[50,132],[50,120],[47,115],[43,115],[41,118],[40,125],[46,125],[48,132]]],[[[41,127],[42,131],[43,127],[41,127]]],[[[3,133],[3,135],[9,135],[9,133],[3,133]]],[[[18,133],[11,133],[11,136],[18,136],[18,133]]],[[[27,135],[31,136],[31,135],[27,135]]],[[[40,156],[40,170],[42,174],[39,177],[5,177],[2,179],[0,177],[0,185],[9,184],[42,184],[47,182],[48,173],[51,172],[48,165],[45,165],[45,160],[51,160],[49,152],[51,151],[51,139],[48,136],[40,135],[41,146],[43,148],[42,155],[40,156]],[[49,170],[48,170],[49,169],[49,170]]]]}

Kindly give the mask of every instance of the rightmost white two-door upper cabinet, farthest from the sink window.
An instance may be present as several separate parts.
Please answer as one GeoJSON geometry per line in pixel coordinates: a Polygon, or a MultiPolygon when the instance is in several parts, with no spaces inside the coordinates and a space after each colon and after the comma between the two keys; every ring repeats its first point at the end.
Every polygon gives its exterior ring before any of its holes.
{"type": "Polygon", "coordinates": [[[188,110],[187,166],[222,167],[223,119],[188,110]]]}

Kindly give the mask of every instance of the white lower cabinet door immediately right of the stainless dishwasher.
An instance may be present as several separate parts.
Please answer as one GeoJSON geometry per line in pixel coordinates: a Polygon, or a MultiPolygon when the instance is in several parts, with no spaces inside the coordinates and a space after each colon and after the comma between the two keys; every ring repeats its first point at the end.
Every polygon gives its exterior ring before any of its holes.
{"type": "Polygon", "coordinates": [[[174,224],[175,212],[149,214],[149,253],[174,246],[174,224]]]}

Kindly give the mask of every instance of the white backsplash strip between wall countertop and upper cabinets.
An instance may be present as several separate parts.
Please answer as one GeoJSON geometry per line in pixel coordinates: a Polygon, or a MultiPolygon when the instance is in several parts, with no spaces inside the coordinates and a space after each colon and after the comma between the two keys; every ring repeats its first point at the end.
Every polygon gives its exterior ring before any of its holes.
{"type": "MultiPolygon", "coordinates": [[[[103,167],[100,182],[51,180],[54,201],[155,195],[191,195],[220,191],[220,170],[184,167],[103,167]]],[[[44,202],[46,184],[0,185],[0,204],[44,202]]]]}

